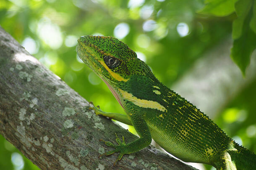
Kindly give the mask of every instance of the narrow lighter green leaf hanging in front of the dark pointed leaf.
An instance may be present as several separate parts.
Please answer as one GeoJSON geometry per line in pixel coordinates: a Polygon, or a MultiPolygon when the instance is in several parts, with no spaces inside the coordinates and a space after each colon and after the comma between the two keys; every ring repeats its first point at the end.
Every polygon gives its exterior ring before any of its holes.
{"type": "Polygon", "coordinates": [[[253,0],[239,0],[235,3],[235,12],[238,18],[232,24],[232,38],[234,40],[240,38],[243,32],[243,23],[251,10],[252,3],[253,0]]]}

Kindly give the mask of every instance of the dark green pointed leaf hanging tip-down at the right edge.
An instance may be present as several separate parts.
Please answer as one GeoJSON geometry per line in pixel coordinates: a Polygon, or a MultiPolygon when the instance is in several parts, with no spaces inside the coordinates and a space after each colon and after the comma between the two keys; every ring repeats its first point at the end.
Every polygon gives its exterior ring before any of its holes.
{"type": "Polygon", "coordinates": [[[250,63],[251,53],[256,48],[256,34],[249,27],[251,18],[252,9],[244,20],[240,38],[233,41],[233,47],[231,48],[231,58],[238,65],[244,76],[246,74],[246,67],[250,63]]]}

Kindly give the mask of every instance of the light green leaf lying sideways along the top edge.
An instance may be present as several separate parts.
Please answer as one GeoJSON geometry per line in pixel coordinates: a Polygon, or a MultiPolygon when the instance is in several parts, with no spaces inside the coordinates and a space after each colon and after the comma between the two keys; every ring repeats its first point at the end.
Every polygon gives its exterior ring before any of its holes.
{"type": "Polygon", "coordinates": [[[210,14],[219,17],[230,15],[235,11],[235,2],[237,0],[207,0],[205,7],[198,13],[210,14]]]}

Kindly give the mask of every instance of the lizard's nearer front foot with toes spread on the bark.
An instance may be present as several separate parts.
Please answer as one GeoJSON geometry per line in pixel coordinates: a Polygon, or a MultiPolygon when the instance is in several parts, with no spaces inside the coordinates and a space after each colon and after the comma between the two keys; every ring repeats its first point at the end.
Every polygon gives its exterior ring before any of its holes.
{"type": "Polygon", "coordinates": [[[116,133],[115,133],[115,136],[116,136],[116,139],[115,139],[115,140],[116,140],[116,142],[118,143],[118,145],[114,145],[114,144],[112,144],[111,142],[107,142],[107,141],[104,141],[104,140],[100,140],[100,141],[104,142],[105,145],[107,145],[107,146],[109,146],[109,147],[114,147],[115,150],[111,150],[111,151],[105,152],[104,154],[102,154],[102,155],[99,156],[99,157],[101,157],[101,156],[103,156],[103,155],[107,156],[107,155],[111,155],[111,154],[113,154],[113,153],[115,153],[115,152],[120,152],[119,155],[118,155],[118,159],[115,160],[114,166],[115,166],[116,162],[118,162],[118,160],[121,160],[121,159],[122,159],[122,157],[123,157],[124,154],[128,153],[127,150],[126,150],[126,148],[125,148],[126,144],[125,144],[125,139],[124,139],[124,137],[123,137],[123,142],[121,142],[120,138],[118,137],[118,135],[117,135],[116,133]]]}

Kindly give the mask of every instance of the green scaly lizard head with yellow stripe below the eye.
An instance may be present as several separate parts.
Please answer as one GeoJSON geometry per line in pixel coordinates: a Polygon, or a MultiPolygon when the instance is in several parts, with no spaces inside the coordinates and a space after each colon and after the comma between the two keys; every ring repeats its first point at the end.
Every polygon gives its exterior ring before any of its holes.
{"type": "MultiPolygon", "coordinates": [[[[136,66],[141,64],[149,69],[134,51],[113,37],[81,36],[76,51],[79,58],[109,84],[128,81],[132,74],[140,71],[136,66]]],[[[145,70],[141,74],[145,74],[145,70]]]]}

